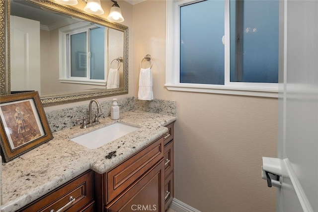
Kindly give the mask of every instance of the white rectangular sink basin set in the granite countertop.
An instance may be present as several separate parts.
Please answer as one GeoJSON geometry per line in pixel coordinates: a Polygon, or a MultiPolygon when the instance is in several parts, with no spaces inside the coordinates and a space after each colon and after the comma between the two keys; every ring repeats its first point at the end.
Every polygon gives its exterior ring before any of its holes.
{"type": "Polygon", "coordinates": [[[114,141],[122,136],[125,136],[139,127],[134,127],[122,123],[115,123],[101,129],[86,133],[75,137],[71,141],[77,142],[89,149],[98,148],[110,141],[114,141]]]}

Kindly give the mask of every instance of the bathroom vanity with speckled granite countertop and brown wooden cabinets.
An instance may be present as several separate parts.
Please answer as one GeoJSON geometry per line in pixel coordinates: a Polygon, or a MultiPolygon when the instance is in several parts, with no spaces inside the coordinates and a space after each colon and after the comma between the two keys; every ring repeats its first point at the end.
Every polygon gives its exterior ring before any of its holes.
{"type": "MultiPolygon", "coordinates": [[[[2,164],[1,212],[164,212],[173,198],[175,117],[128,111],[100,126],[62,130],[2,164]],[[96,149],[70,141],[114,122],[140,128],[96,149]],[[15,174],[14,174],[15,173],[15,174]],[[54,211],[52,211],[54,210],[54,211]]],[[[106,135],[107,136],[107,135],[106,135]]]]}

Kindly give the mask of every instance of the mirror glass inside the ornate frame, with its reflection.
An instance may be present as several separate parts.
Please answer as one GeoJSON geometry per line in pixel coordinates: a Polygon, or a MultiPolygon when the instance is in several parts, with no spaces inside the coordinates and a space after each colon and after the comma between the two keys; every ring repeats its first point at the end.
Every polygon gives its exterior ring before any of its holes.
{"type": "Polygon", "coordinates": [[[26,1],[10,6],[11,91],[50,95],[123,85],[121,61],[110,62],[124,56],[124,32],[26,1]]]}

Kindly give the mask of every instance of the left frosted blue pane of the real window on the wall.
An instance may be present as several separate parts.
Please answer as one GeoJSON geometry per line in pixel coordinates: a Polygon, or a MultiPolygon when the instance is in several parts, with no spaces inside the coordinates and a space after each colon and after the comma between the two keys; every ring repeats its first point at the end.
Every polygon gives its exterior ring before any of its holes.
{"type": "Polygon", "coordinates": [[[180,83],[224,84],[224,1],[180,7],[180,83]]]}

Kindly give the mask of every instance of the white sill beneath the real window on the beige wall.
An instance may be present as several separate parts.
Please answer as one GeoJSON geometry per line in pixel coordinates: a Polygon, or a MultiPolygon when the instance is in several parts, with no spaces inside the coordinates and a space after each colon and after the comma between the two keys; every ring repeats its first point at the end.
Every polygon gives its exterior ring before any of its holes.
{"type": "Polygon", "coordinates": [[[218,93],[243,96],[261,96],[278,98],[278,88],[250,88],[226,85],[204,85],[204,84],[164,84],[168,90],[199,92],[199,93],[218,93]]]}

